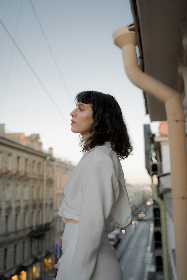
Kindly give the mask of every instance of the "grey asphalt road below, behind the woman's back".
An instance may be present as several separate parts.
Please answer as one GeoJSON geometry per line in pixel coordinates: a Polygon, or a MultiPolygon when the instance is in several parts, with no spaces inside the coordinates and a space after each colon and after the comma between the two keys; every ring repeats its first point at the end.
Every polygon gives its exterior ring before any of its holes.
{"type": "MultiPolygon", "coordinates": [[[[146,207],[147,211],[145,206],[142,208],[146,214],[145,218],[151,218],[152,206],[146,207]]],[[[145,257],[152,223],[152,220],[141,220],[135,225],[130,225],[115,248],[124,280],[146,280],[145,257]]]]}

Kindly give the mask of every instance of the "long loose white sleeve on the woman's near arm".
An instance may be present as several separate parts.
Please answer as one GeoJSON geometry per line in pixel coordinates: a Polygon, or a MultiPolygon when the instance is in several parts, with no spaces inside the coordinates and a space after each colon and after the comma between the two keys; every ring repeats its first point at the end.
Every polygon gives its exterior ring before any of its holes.
{"type": "Polygon", "coordinates": [[[68,274],[69,280],[90,280],[96,265],[105,221],[119,187],[110,161],[94,162],[82,181],[79,234],[68,274]]]}

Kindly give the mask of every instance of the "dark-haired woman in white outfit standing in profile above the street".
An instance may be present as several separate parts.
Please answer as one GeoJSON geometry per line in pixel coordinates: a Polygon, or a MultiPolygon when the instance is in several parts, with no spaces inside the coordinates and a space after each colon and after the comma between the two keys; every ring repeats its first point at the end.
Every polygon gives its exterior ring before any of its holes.
{"type": "Polygon", "coordinates": [[[108,232],[132,221],[119,157],[132,146],[116,99],[95,91],[75,98],[71,131],[80,133],[83,156],[64,188],[59,216],[65,224],[56,280],[123,280],[108,232]]]}

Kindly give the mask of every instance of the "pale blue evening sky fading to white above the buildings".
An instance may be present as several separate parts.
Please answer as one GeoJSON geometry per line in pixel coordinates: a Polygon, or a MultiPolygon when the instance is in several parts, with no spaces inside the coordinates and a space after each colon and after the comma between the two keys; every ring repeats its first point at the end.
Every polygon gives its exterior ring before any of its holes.
{"type": "Polygon", "coordinates": [[[0,20],[0,123],[5,132],[39,134],[44,151],[52,147],[55,157],[77,165],[79,134],[70,125],[75,95],[83,90],[111,94],[134,147],[134,154],[121,161],[126,182],[151,183],[143,125],[150,124],[158,135],[160,122],[150,122],[143,92],[126,76],[113,40],[117,29],[133,23],[129,1],[1,0],[0,20]]]}

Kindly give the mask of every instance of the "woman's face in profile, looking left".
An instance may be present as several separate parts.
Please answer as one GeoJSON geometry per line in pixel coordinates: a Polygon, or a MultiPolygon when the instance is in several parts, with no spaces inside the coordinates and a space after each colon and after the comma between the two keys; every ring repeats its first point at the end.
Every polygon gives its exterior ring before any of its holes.
{"type": "Polygon", "coordinates": [[[89,131],[93,119],[93,111],[91,103],[77,103],[77,107],[70,113],[71,119],[71,131],[75,133],[81,133],[84,140],[89,137],[89,131]]]}

